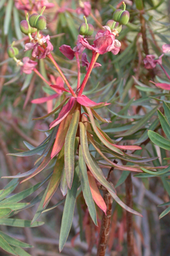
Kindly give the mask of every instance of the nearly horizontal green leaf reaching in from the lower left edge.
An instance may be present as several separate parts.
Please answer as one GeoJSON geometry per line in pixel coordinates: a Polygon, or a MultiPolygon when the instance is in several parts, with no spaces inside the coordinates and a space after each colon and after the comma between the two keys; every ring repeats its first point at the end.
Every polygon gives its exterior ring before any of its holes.
{"type": "Polygon", "coordinates": [[[9,225],[11,227],[18,227],[18,228],[34,228],[38,227],[39,225],[43,225],[41,221],[35,221],[35,223],[31,224],[31,220],[20,220],[20,219],[0,219],[0,225],[9,225]]]}

